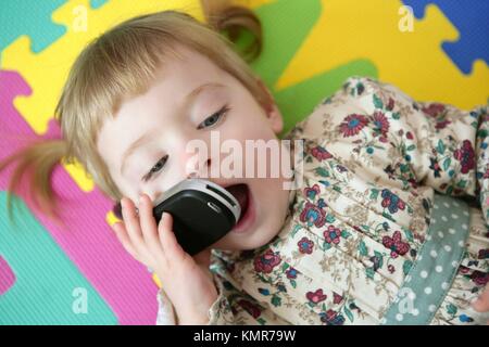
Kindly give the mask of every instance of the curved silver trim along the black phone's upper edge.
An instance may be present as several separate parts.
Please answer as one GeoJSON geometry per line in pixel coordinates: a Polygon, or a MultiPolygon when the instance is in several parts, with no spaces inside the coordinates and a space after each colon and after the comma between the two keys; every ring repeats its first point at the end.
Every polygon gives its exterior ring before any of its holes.
{"type": "Polygon", "coordinates": [[[183,180],[181,182],[175,184],[171,189],[168,189],[162,196],[160,196],[156,201],[153,203],[153,207],[160,205],[163,201],[171,197],[172,195],[176,194],[179,191],[184,190],[195,190],[200,191],[202,193],[205,193],[208,195],[211,195],[212,197],[218,200],[222,204],[224,204],[230,211],[233,213],[235,217],[235,222],[238,221],[239,217],[241,216],[241,207],[239,206],[239,202],[236,200],[235,196],[233,196],[231,193],[226,191],[224,188],[222,188],[218,184],[215,184],[214,182],[203,180],[203,179],[197,179],[197,178],[190,178],[183,180]],[[230,201],[235,203],[235,206],[229,204],[229,202],[217,194],[216,192],[209,190],[206,185],[211,185],[216,191],[221,192],[223,195],[226,195],[230,201]]]}

